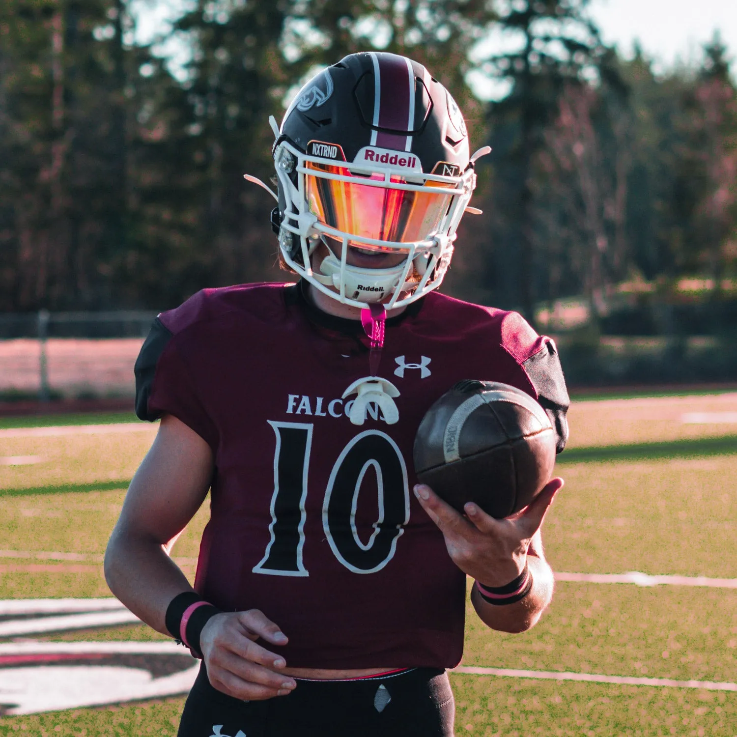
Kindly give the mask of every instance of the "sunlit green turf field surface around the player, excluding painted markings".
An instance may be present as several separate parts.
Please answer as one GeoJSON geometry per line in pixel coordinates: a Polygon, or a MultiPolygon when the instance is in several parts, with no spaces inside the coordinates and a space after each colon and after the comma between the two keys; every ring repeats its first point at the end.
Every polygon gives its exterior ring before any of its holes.
{"type": "MultiPolygon", "coordinates": [[[[566,486],[545,523],[553,569],[737,578],[737,425],[681,422],[736,408],[735,395],[574,404],[558,469],[566,486]]],[[[108,595],[105,542],[155,432],[0,435],[0,456],[45,459],[0,467],[0,598],[108,595]]],[[[172,553],[190,576],[205,522],[201,511],[172,553]]],[[[161,635],[126,626],[49,639],[150,638],[161,635]]],[[[736,682],[737,589],[561,581],[523,635],[490,632],[469,611],[464,665],[736,682]]],[[[734,691],[451,677],[459,737],[737,736],[734,691]]],[[[0,734],[173,735],[183,703],[5,717],[0,734]]]]}

